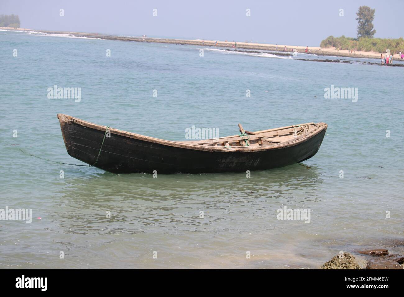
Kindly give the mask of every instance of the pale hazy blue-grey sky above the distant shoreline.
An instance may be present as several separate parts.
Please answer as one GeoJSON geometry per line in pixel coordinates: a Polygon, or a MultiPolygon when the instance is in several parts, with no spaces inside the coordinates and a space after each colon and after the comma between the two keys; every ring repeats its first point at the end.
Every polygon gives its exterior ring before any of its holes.
{"type": "Polygon", "coordinates": [[[319,46],[330,35],[356,37],[361,5],[376,9],[375,37],[404,35],[403,0],[0,0],[0,14],[18,14],[29,29],[319,46]]]}

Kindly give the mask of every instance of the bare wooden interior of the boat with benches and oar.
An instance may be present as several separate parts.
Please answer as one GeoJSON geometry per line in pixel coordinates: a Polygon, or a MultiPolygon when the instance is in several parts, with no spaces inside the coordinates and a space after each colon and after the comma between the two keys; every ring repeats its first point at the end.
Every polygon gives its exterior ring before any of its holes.
{"type": "Polygon", "coordinates": [[[286,126],[282,128],[275,128],[263,131],[250,132],[245,131],[241,124],[240,134],[234,136],[201,139],[198,141],[182,141],[182,143],[193,145],[208,145],[214,147],[232,148],[232,147],[261,147],[268,145],[280,145],[291,143],[299,139],[309,136],[319,128],[324,126],[324,123],[307,123],[300,125],[286,126]]]}

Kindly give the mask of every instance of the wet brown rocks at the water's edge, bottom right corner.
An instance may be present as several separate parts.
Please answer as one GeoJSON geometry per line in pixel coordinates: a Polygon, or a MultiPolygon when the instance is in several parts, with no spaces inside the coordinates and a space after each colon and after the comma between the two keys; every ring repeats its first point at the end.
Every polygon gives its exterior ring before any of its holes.
{"type": "MultiPolygon", "coordinates": [[[[404,241],[396,246],[404,245],[404,241]]],[[[340,251],[330,261],[324,263],[320,269],[404,269],[404,255],[389,254],[384,248],[353,251],[361,254],[356,257],[351,253],[340,251]]]]}

